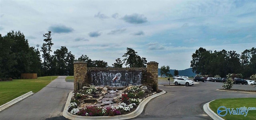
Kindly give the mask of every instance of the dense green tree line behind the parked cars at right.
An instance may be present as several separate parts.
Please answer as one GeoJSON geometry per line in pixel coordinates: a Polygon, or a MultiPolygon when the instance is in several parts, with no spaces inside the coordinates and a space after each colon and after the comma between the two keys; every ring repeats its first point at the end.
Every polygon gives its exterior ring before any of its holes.
{"type": "Polygon", "coordinates": [[[240,73],[243,78],[249,78],[256,73],[256,49],[246,49],[240,55],[236,51],[212,52],[200,47],[192,54],[190,63],[196,74],[226,77],[229,73],[240,73]]]}

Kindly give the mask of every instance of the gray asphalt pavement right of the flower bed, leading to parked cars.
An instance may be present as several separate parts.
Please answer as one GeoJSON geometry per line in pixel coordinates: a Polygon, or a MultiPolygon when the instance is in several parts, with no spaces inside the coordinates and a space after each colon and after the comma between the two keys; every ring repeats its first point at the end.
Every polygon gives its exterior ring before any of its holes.
{"type": "MultiPolygon", "coordinates": [[[[203,105],[220,98],[248,98],[256,94],[240,92],[223,92],[223,83],[206,82],[191,87],[159,86],[166,94],[148,102],[140,116],[134,120],[211,120],[204,112],[203,105]]],[[[234,89],[252,89],[250,85],[234,85],[234,89]]]]}

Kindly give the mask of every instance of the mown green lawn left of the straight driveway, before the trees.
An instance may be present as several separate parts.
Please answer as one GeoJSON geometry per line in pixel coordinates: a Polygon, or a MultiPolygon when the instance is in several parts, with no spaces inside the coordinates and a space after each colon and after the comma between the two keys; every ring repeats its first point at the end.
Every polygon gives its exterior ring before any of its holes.
{"type": "Polygon", "coordinates": [[[38,79],[15,79],[0,82],[0,105],[29,91],[38,92],[58,76],[38,77],[38,79]]]}

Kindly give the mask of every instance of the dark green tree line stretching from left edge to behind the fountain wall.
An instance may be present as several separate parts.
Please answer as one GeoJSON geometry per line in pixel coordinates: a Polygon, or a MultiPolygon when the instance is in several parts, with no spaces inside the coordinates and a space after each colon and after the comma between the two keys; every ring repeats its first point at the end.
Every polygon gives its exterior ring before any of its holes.
{"type": "MultiPolygon", "coordinates": [[[[85,61],[88,67],[110,67],[102,60],[92,61],[87,55],[82,55],[78,59],[68,51],[65,46],[56,49],[53,55],[51,31],[43,34],[44,43],[30,47],[28,39],[20,31],[10,31],[7,35],[0,34],[0,78],[20,78],[21,73],[37,73],[38,76],[48,75],[74,75],[73,63],[75,61],[85,61]],[[42,52],[42,56],[40,54],[42,52]]],[[[122,57],[116,59],[112,67],[146,67],[146,58],[137,55],[132,48],[127,48],[127,52],[122,57]]]]}

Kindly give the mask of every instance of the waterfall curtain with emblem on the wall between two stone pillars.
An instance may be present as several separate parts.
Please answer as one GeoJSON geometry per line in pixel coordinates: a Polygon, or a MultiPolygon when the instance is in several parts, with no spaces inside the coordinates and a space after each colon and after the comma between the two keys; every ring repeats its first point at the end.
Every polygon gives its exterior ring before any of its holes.
{"type": "Polygon", "coordinates": [[[142,70],[91,70],[92,84],[95,86],[123,87],[141,85],[142,70]]]}

